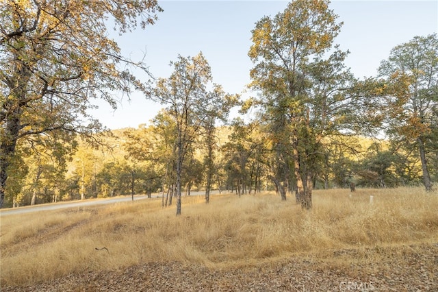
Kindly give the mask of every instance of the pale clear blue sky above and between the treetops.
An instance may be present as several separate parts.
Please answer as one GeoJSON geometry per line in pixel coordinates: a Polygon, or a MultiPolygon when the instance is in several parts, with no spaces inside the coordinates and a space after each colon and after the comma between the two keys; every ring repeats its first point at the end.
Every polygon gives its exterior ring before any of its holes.
{"type": "MultiPolygon", "coordinates": [[[[287,1],[158,1],[164,12],[155,25],[114,38],[125,56],[145,62],[155,77],[168,77],[169,62],[177,55],[195,56],[202,51],[213,81],[229,93],[242,93],[250,82],[253,64],[248,58],[250,31],[265,15],[282,12],[287,1]]],[[[332,1],[331,9],[343,21],[335,40],[349,50],[346,65],[357,77],[376,75],[381,60],[396,45],[414,36],[438,32],[438,1],[332,1]]],[[[113,36],[113,35],[112,35],[113,36]]],[[[139,76],[146,80],[146,76],[139,76]]],[[[243,95],[248,96],[248,93],[243,95]]],[[[99,102],[94,117],[111,129],[149,123],[159,104],[134,93],[114,112],[99,102]]]]}

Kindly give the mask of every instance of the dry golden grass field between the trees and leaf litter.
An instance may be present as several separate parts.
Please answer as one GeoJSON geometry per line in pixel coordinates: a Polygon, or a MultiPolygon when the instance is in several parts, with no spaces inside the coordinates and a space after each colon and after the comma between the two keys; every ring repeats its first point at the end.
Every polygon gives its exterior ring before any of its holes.
{"type": "MultiPolygon", "coordinates": [[[[438,194],[421,188],[315,191],[313,210],[273,193],[159,199],[1,218],[1,287],[147,262],[250,267],[290,256],[375,263],[367,249],[438,242],[438,194]],[[370,195],[374,202],[370,204],[370,195]],[[96,247],[107,247],[96,250],[96,247]],[[344,257],[345,260],[345,257],[344,257]]],[[[402,253],[394,256],[402,257],[402,253]]],[[[337,263],[342,265],[342,263],[337,263]]]]}

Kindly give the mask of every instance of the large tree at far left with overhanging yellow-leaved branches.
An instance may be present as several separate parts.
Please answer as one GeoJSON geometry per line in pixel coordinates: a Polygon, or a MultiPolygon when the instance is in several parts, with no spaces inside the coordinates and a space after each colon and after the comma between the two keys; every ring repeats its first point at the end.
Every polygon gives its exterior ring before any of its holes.
{"type": "Polygon", "coordinates": [[[14,1],[0,3],[0,207],[19,139],[46,132],[83,135],[101,128],[89,116],[96,98],[116,108],[118,92],[142,84],[107,34],[153,24],[156,0],[14,1]]]}

